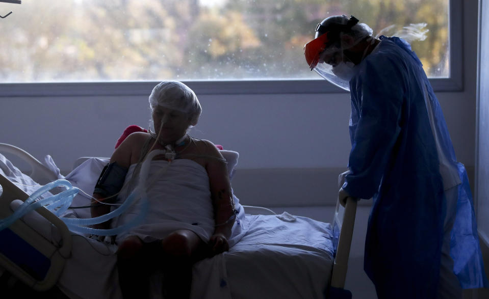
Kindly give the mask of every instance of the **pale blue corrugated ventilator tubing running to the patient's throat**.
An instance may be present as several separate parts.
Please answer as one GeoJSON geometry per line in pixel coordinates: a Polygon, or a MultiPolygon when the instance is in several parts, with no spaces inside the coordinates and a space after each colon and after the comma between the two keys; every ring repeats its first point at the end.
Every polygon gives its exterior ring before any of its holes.
{"type": "MultiPolygon", "coordinates": [[[[165,152],[166,151],[155,150],[148,154],[147,158],[145,159],[145,161],[141,166],[141,171],[139,176],[140,180],[138,186],[127,197],[124,203],[121,206],[119,206],[117,209],[113,210],[108,214],[101,215],[95,218],[77,219],[77,218],[60,217],[60,219],[66,224],[68,229],[72,232],[96,234],[100,236],[117,235],[141,223],[144,220],[144,218],[146,218],[146,215],[149,210],[149,202],[146,197],[145,183],[149,173],[150,162],[153,157],[155,157],[158,154],[162,154],[162,153],[164,154],[165,152]],[[85,227],[88,225],[103,223],[116,216],[119,216],[128,207],[130,207],[133,203],[136,202],[136,199],[138,198],[137,195],[140,195],[140,198],[143,199],[143,203],[141,205],[141,211],[140,213],[138,213],[138,216],[136,216],[130,222],[113,229],[94,229],[90,227],[85,227]]],[[[79,191],[80,191],[79,188],[73,187],[69,181],[64,179],[59,179],[40,187],[27,200],[25,200],[24,203],[20,205],[20,207],[12,215],[10,215],[6,219],[0,220],[0,231],[12,225],[12,223],[14,223],[17,219],[21,218],[23,215],[27,214],[28,212],[33,211],[42,206],[46,207],[48,210],[52,211],[57,216],[62,215],[71,205],[73,198],[76,196],[76,194],[78,194],[79,191]],[[53,195],[44,198],[42,200],[36,201],[36,199],[43,193],[48,192],[50,189],[53,189],[55,187],[60,187],[60,186],[66,187],[68,189],[57,195],[53,195]]]]}

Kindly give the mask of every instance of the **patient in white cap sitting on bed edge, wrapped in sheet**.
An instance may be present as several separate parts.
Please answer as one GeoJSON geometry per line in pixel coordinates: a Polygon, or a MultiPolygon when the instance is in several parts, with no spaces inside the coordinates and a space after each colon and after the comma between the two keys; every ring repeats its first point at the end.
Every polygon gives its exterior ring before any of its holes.
{"type": "MultiPolygon", "coordinates": [[[[201,107],[194,92],[177,81],[163,81],[149,96],[148,133],[129,135],[112,154],[95,186],[92,216],[110,212],[111,202],[123,201],[138,183],[148,153],[166,151],[150,162],[146,180],[149,211],[143,223],[116,237],[119,282],[124,298],[149,296],[153,270],[164,274],[165,298],[188,298],[192,265],[229,249],[234,223],[233,197],[224,158],[207,140],[190,137],[201,107]],[[119,192],[120,191],[120,192],[119,192]]],[[[107,229],[129,222],[140,213],[141,200],[107,229]]]]}

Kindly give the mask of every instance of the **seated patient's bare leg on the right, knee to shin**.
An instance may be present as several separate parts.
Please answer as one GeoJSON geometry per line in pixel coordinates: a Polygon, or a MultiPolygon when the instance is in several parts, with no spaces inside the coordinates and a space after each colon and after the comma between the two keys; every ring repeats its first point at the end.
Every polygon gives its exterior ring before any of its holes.
{"type": "Polygon", "coordinates": [[[161,241],[165,298],[189,298],[192,265],[205,257],[205,243],[192,231],[178,230],[161,241]]]}

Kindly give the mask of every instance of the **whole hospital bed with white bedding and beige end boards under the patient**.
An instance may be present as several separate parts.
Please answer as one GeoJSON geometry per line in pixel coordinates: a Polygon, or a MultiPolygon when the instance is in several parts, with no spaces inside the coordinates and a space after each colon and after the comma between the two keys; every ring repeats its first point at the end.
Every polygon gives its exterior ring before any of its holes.
{"type": "MultiPolygon", "coordinates": [[[[1,153],[21,158],[32,169],[27,174],[20,173],[5,156],[0,156],[3,219],[29,197],[29,191],[21,189],[27,187],[14,182],[34,185],[59,176],[15,146],[0,144],[1,153]]],[[[73,171],[90,162],[95,176],[92,180],[96,180],[106,162],[104,158],[82,157],[75,161],[73,171]],[[93,165],[100,169],[93,169],[93,165]]],[[[66,178],[69,180],[70,174],[66,178]]],[[[242,206],[246,232],[229,252],[194,266],[192,298],[351,297],[344,285],[356,202],[348,198],[345,207],[338,202],[331,224],[287,213],[276,215],[263,207],[242,206]]],[[[59,288],[69,298],[119,298],[115,261],[114,248],[109,244],[70,232],[44,207],[0,231],[0,281],[2,275],[8,274],[35,291],[59,288]],[[96,281],[90,277],[96,277],[96,281]],[[92,293],[87,286],[93,289],[92,293]]],[[[153,277],[152,287],[159,289],[161,278],[153,277]]]]}

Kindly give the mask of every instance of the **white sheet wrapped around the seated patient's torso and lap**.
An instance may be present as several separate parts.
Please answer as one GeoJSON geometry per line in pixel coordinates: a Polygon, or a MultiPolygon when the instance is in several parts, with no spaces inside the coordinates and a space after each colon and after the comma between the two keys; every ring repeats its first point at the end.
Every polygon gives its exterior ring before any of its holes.
{"type": "MultiPolygon", "coordinates": [[[[168,166],[166,160],[150,162],[147,183],[149,211],[142,223],[129,231],[117,235],[119,243],[128,235],[136,235],[145,242],[161,240],[170,233],[186,229],[194,232],[207,242],[214,232],[214,210],[211,200],[207,171],[189,159],[176,159],[168,166]]],[[[136,164],[131,165],[125,183],[133,176],[136,164]]],[[[132,186],[121,192],[124,199],[132,191],[132,186]]],[[[115,219],[117,227],[130,222],[141,212],[142,200],[128,208],[115,219]]]]}

